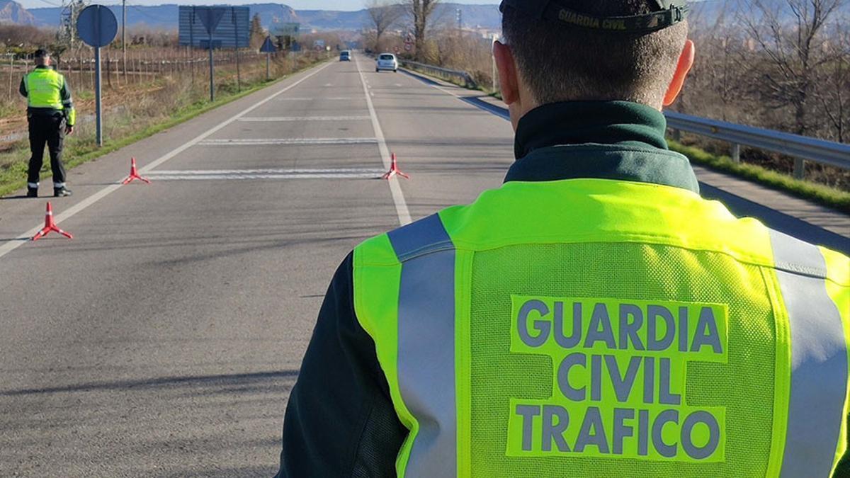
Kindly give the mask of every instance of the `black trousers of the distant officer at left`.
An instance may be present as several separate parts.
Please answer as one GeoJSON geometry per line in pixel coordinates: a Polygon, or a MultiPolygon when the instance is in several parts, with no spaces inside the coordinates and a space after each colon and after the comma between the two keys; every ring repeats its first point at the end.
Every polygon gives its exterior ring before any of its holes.
{"type": "Polygon", "coordinates": [[[61,111],[54,114],[28,113],[30,123],[30,170],[27,182],[37,183],[44,161],[44,145],[48,145],[50,168],[53,180],[65,183],[65,167],[62,166],[62,143],[65,141],[65,115],[61,111]]]}

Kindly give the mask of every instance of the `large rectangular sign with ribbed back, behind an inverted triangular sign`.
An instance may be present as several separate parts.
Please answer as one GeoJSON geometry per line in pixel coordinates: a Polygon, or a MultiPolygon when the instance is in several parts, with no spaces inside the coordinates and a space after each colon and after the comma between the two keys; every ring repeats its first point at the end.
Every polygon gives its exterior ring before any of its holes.
{"type": "Polygon", "coordinates": [[[248,48],[251,45],[250,15],[248,7],[181,5],[179,43],[181,46],[209,48],[207,23],[212,25],[218,18],[218,25],[214,25],[212,31],[213,47],[248,48]]]}

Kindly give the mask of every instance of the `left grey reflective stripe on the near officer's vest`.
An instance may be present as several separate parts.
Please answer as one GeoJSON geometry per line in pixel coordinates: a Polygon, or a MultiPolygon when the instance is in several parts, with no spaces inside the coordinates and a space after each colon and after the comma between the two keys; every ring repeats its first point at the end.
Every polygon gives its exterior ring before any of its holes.
{"type": "Polygon", "coordinates": [[[401,265],[399,389],[419,429],[406,476],[456,476],[455,248],[439,216],[388,234],[401,265]]]}

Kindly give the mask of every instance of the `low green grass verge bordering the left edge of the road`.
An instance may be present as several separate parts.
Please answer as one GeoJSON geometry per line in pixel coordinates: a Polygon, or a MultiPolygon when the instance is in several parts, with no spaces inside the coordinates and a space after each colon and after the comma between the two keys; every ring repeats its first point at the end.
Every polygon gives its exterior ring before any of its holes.
{"type": "MultiPolygon", "coordinates": [[[[323,63],[323,61],[319,63],[323,63]]],[[[246,88],[239,93],[227,94],[225,96],[218,94],[218,100],[215,100],[212,103],[210,103],[209,101],[198,101],[195,103],[191,103],[190,105],[186,105],[183,108],[180,108],[177,112],[174,113],[173,117],[167,119],[164,122],[152,124],[142,129],[141,131],[138,131],[133,134],[128,134],[127,136],[124,136],[119,139],[108,139],[100,148],[94,145],[94,139],[80,139],[76,143],[68,145],[68,147],[66,147],[65,154],[63,156],[69,157],[69,159],[64,162],[65,168],[71,169],[100,156],[105,156],[113,151],[120,150],[121,148],[127,145],[132,145],[133,143],[141,139],[148,138],[165,129],[173,128],[181,122],[189,121],[190,119],[202,115],[207,111],[211,111],[218,108],[218,106],[227,105],[232,101],[244,98],[245,96],[255,93],[263,88],[268,88],[269,86],[272,86],[275,83],[279,83],[285,80],[286,78],[292,77],[292,75],[295,75],[301,71],[309,70],[310,68],[314,68],[317,65],[318,64],[309,65],[305,68],[302,68],[301,70],[292,71],[292,73],[289,75],[285,75],[269,82],[261,81],[260,83],[250,88],[246,88]]],[[[29,151],[29,145],[27,145],[25,149],[26,151],[29,151]]],[[[26,170],[26,162],[15,162],[9,165],[8,168],[0,169],[0,196],[6,196],[10,192],[17,191],[23,188],[24,185],[26,185],[26,170]]],[[[42,171],[42,179],[48,177],[49,175],[50,173],[48,171],[42,171]]]]}

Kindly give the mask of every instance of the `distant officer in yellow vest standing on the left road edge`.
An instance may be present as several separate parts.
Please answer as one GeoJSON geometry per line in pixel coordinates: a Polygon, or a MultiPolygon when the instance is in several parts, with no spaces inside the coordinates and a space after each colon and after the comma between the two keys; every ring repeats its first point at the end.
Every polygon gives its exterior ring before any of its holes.
{"type": "Polygon", "coordinates": [[[65,77],[50,66],[50,55],[43,49],[35,53],[36,68],[20,80],[20,94],[26,96],[26,119],[30,125],[30,168],[26,196],[38,196],[39,173],[48,145],[53,170],[54,196],[71,196],[65,187],[62,143],[65,134],[74,132],[77,112],[71,100],[71,88],[65,77]]]}

